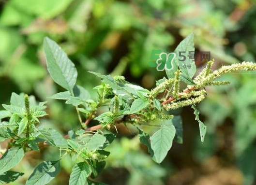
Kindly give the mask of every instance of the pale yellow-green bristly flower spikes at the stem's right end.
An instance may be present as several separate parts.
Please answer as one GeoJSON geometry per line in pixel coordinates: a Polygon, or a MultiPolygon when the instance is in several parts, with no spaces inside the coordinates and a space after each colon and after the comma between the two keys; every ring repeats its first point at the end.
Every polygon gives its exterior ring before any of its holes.
{"type": "Polygon", "coordinates": [[[256,63],[242,62],[229,66],[222,66],[220,69],[212,71],[211,67],[214,60],[207,63],[207,66],[202,70],[196,78],[193,79],[195,85],[187,85],[187,88],[180,92],[180,81],[182,73],[180,70],[175,72],[175,77],[166,79],[151,90],[150,97],[156,97],[159,93],[165,92],[161,105],[167,111],[178,109],[181,107],[196,104],[205,99],[205,86],[209,85],[228,85],[228,81],[218,81],[216,78],[222,74],[236,71],[255,71],[256,63]],[[167,99],[166,99],[167,97],[167,99]]]}

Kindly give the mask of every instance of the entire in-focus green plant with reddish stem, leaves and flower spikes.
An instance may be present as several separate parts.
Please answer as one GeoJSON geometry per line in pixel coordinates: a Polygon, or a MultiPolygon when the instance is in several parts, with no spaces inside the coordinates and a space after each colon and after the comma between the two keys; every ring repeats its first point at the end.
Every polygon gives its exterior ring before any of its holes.
{"type": "MultiPolygon", "coordinates": [[[[194,51],[193,34],[185,38],[176,48],[179,51],[194,51]]],[[[51,99],[66,100],[75,106],[81,129],[70,130],[63,137],[57,130],[44,128],[39,117],[45,116],[45,103],[36,103],[34,97],[15,93],[11,96],[11,105],[3,104],[5,111],[0,111],[0,119],[10,118],[0,123],[1,141],[10,139],[9,148],[0,159],[0,180],[8,183],[23,175],[22,172],[10,171],[31,150],[40,151],[40,143],[60,148],[60,159],[44,161],[30,175],[26,185],[45,185],[60,171],[60,160],[65,155],[74,159],[74,167],[70,174],[70,185],[102,184],[91,180],[99,175],[105,167],[105,158],[110,154],[105,151],[115,139],[109,129],[117,124],[132,124],[138,129],[139,140],[148,147],[152,159],[161,163],[172,146],[173,141],[182,143],[182,122],[180,116],[168,114],[171,109],[192,106],[199,123],[200,138],[204,141],[206,126],[199,120],[199,111],[195,104],[206,96],[204,87],[207,85],[226,85],[226,81],[215,81],[220,75],[241,70],[256,70],[250,62],[225,66],[212,71],[213,61],[196,78],[195,63],[192,59],[183,65],[192,65],[191,69],[178,68],[178,58],[174,61],[174,71],[166,71],[168,79],[157,81],[151,91],[130,84],[122,76],[103,75],[91,72],[102,79],[102,84],[95,87],[97,100],[82,86],[76,85],[77,71],[73,62],[67,57],[60,46],[49,38],[44,40],[44,51],[47,69],[52,79],[67,91],[51,96],[51,99]],[[187,87],[180,92],[181,81],[187,87]],[[98,108],[108,107],[109,111],[97,114],[98,108]],[[84,121],[85,120],[85,121],[84,121]],[[98,125],[91,126],[90,121],[96,120],[98,125]],[[150,135],[142,125],[150,125],[159,129],[150,135]],[[8,181],[8,182],[7,182],[8,181]]]]}

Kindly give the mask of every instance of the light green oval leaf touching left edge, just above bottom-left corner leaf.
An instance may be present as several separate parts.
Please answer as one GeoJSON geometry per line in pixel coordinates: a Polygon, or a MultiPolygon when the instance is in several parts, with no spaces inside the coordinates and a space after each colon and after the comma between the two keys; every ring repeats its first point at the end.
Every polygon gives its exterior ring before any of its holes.
{"type": "Polygon", "coordinates": [[[24,157],[22,148],[11,148],[0,159],[0,174],[15,167],[24,157]]]}

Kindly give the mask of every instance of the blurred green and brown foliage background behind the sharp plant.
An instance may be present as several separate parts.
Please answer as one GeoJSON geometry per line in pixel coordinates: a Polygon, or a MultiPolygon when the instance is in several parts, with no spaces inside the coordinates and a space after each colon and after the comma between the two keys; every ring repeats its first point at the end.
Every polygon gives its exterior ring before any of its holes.
{"type": "MultiPolygon", "coordinates": [[[[151,89],[165,75],[148,66],[152,49],[171,52],[191,32],[196,51],[210,51],[215,58],[214,69],[256,61],[256,1],[0,0],[0,104],[9,103],[11,92],[44,101],[63,90],[46,71],[45,36],[67,52],[78,70],[78,84],[95,97],[92,87],[100,81],[87,71],[124,75],[151,89]]],[[[202,64],[199,57],[196,65],[202,64]]],[[[97,180],[110,185],[256,184],[256,73],[222,78],[231,85],[207,88],[208,97],[199,104],[208,127],[203,144],[191,108],[177,111],[183,144],[174,143],[161,165],[151,160],[132,129],[120,127],[97,180]]],[[[47,106],[42,124],[65,134],[79,127],[72,106],[59,100],[48,100],[47,106]]],[[[16,169],[25,175],[12,185],[25,184],[40,161],[55,156],[58,151],[50,147],[26,154],[16,169]]],[[[64,158],[63,170],[50,184],[68,185],[72,165],[64,158]]]]}

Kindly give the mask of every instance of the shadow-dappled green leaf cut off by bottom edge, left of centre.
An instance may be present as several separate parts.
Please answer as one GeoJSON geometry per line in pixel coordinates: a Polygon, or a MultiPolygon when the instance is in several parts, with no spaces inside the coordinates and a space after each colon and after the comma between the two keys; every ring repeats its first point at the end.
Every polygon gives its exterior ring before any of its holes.
{"type": "Polygon", "coordinates": [[[60,161],[44,161],[30,175],[26,185],[46,185],[60,172],[60,161]]]}

